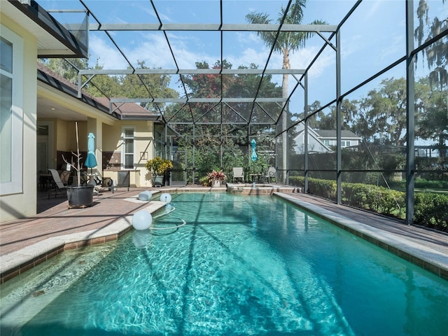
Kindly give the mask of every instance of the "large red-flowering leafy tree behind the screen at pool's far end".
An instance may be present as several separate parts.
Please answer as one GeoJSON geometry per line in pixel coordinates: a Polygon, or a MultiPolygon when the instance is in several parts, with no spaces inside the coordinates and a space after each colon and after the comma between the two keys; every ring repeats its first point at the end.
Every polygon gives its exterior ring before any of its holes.
{"type": "MultiPolygon", "coordinates": [[[[197,62],[196,67],[197,69],[232,69],[232,64],[224,59],[222,64],[217,61],[211,66],[207,62],[197,62]]],[[[246,67],[239,66],[239,69],[246,69],[246,67]]],[[[257,69],[257,66],[251,64],[250,69],[257,69]]],[[[217,98],[221,97],[221,94],[222,97],[253,97],[258,90],[260,80],[261,75],[253,73],[225,75],[222,81],[221,75],[210,73],[183,76],[183,84],[186,86],[189,98],[217,98]]],[[[272,82],[271,75],[265,75],[259,94],[260,97],[281,97],[281,87],[272,82]]],[[[271,111],[276,106],[275,103],[267,104],[264,106],[266,111],[271,111]],[[269,104],[272,104],[272,109],[269,108],[269,104]]],[[[272,137],[269,137],[272,127],[253,125],[253,123],[265,121],[266,113],[257,106],[253,107],[253,103],[247,102],[225,104],[195,102],[170,106],[165,113],[165,118],[175,123],[180,122],[172,125],[179,134],[182,134],[177,139],[179,153],[185,153],[183,155],[186,155],[188,166],[194,165],[195,169],[205,176],[212,169],[230,172],[232,167],[247,167],[248,146],[253,137],[257,139],[259,154],[257,163],[260,164],[257,167],[264,167],[262,162],[267,165],[271,159],[269,153],[272,153],[273,146],[272,137]]]]}

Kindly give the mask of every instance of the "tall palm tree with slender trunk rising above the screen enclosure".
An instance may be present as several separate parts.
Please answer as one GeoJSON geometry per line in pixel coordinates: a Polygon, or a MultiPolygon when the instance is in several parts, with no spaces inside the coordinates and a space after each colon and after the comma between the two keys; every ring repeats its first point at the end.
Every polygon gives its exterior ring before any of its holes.
{"type": "MultiPolygon", "coordinates": [[[[288,2],[288,6],[283,8],[281,6],[281,11],[279,13],[279,17],[277,18],[277,22],[279,24],[286,25],[300,25],[303,19],[303,8],[305,8],[307,4],[307,0],[295,0],[294,3],[291,4],[291,1],[288,2]]],[[[269,24],[272,22],[269,19],[269,15],[266,13],[250,13],[246,15],[246,20],[251,24],[269,24]]],[[[311,25],[325,25],[326,22],[315,20],[311,22],[311,25]]],[[[283,53],[283,66],[282,69],[290,69],[289,62],[289,54],[295,50],[300,48],[304,48],[305,40],[311,37],[313,34],[310,31],[285,31],[281,32],[277,36],[276,31],[258,31],[258,36],[262,38],[265,44],[274,48],[275,52],[283,53]]],[[[282,97],[288,97],[288,74],[283,73],[282,78],[282,97]]],[[[287,104],[286,102],[284,104],[287,104]]],[[[283,169],[286,169],[286,155],[288,154],[286,151],[286,143],[288,139],[288,134],[286,133],[288,121],[288,106],[283,105],[283,113],[282,113],[282,124],[283,124],[283,134],[282,134],[282,142],[283,142],[283,169]]],[[[286,174],[283,174],[283,183],[286,183],[286,174]]]]}

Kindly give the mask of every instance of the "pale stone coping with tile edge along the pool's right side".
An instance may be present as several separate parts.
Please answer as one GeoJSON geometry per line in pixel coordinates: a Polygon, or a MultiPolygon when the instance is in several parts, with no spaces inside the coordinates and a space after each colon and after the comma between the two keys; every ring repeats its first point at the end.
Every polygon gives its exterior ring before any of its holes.
{"type": "Polygon", "coordinates": [[[357,237],[363,238],[370,243],[383,248],[384,250],[397,255],[398,257],[412,262],[428,272],[431,272],[442,279],[448,280],[448,255],[435,251],[433,248],[417,244],[409,239],[404,239],[391,232],[386,232],[371,225],[354,221],[335,212],[318,207],[317,205],[298,200],[293,195],[285,193],[274,193],[274,195],[283,198],[302,209],[309,211],[318,217],[337,225],[357,237]]]}

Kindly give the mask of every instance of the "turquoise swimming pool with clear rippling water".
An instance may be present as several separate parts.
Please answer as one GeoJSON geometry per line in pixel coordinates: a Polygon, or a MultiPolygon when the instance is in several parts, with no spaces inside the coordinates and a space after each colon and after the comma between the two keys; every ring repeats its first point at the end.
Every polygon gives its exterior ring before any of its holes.
{"type": "Polygon", "coordinates": [[[1,335],[444,335],[448,281],[278,197],[172,195],[171,230],[1,288],[1,335]],[[51,276],[50,276],[51,274],[51,276]]]}

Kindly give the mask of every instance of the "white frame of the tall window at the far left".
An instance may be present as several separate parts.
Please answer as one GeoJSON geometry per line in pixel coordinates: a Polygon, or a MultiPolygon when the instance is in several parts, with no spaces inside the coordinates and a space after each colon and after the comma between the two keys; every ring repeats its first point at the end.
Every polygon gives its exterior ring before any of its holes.
{"type": "MultiPolygon", "coordinates": [[[[0,182],[0,195],[23,193],[23,62],[24,41],[18,34],[1,25],[1,37],[13,45],[13,73],[0,69],[1,74],[13,79],[11,107],[10,158],[1,155],[2,165],[10,162],[10,181],[0,182]]],[[[31,145],[32,146],[32,145],[31,145]]]]}

